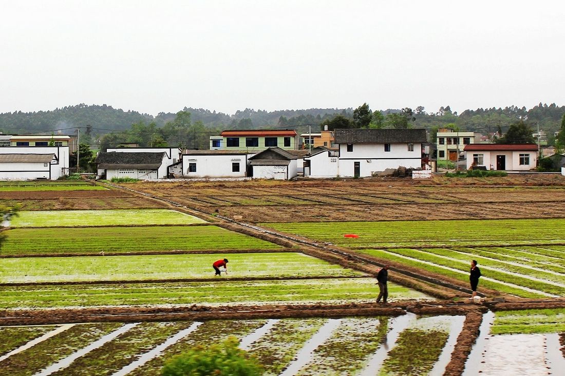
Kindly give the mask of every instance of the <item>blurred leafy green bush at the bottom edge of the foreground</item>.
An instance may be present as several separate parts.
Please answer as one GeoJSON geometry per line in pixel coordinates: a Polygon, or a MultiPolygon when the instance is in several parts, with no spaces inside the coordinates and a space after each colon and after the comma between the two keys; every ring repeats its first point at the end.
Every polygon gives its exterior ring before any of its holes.
{"type": "Polygon", "coordinates": [[[223,343],[209,347],[196,346],[189,352],[168,360],[161,374],[163,376],[256,376],[262,374],[263,370],[258,361],[248,357],[246,352],[237,346],[237,339],[233,336],[223,343]]]}

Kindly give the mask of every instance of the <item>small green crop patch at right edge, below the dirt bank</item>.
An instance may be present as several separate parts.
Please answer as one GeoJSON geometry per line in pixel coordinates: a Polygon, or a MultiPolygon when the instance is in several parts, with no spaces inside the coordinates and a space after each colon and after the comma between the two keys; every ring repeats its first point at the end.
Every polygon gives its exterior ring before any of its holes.
{"type": "Polygon", "coordinates": [[[538,334],[565,331],[565,308],[496,312],[492,334],[538,334]]]}

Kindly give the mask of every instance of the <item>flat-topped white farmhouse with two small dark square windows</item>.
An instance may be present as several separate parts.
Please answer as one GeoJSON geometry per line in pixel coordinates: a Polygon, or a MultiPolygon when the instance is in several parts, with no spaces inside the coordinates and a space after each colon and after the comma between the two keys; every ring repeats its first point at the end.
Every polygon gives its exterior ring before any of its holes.
{"type": "Polygon", "coordinates": [[[243,150],[186,150],[179,170],[187,178],[242,178],[248,157],[243,150]]]}

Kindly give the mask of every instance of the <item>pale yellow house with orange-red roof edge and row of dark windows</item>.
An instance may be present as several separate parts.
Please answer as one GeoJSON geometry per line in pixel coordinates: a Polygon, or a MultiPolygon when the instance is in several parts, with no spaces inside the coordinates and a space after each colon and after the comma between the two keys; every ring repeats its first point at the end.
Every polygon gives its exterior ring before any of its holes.
{"type": "Polygon", "coordinates": [[[210,150],[240,150],[249,153],[266,148],[296,149],[294,129],[229,130],[210,136],[210,150]]]}

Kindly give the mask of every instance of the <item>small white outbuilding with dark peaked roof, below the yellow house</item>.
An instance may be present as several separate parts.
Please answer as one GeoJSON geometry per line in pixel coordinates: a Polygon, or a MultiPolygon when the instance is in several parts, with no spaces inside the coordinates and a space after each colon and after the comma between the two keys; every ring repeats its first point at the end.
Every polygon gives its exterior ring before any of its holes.
{"type": "Polygon", "coordinates": [[[298,156],[281,148],[269,148],[249,158],[250,176],[256,179],[290,180],[298,175],[298,156]]]}

